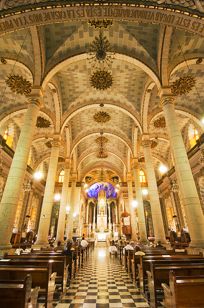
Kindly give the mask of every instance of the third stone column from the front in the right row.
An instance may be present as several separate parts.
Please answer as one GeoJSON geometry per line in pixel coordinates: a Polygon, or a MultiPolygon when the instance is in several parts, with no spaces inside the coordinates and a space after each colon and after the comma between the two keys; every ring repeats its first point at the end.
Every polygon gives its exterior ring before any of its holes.
{"type": "Polygon", "coordinates": [[[138,225],[139,225],[139,241],[147,245],[149,242],[147,240],[147,230],[145,224],[145,216],[144,216],[144,207],[143,207],[143,199],[142,199],[142,190],[141,184],[139,180],[139,167],[140,164],[138,163],[137,158],[133,158],[133,172],[135,178],[135,195],[136,195],[136,202],[137,202],[137,217],[138,217],[138,225]]]}

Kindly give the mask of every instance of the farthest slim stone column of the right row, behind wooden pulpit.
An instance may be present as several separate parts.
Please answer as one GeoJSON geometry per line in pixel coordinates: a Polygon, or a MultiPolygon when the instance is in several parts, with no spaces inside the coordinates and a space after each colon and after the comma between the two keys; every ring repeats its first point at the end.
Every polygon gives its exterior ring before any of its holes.
{"type": "Polygon", "coordinates": [[[126,178],[128,184],[128,203],[129,203],[129,211],[130,211],[130,221],[131,221],[131,240],[137,241],[137,217],[135,215],[135,209],[133,207],[133,193],[132,193],[132,178],[131,173],[127,173],[126,178]],[[133,227],[134,225],[134,227],[133,227]]]}

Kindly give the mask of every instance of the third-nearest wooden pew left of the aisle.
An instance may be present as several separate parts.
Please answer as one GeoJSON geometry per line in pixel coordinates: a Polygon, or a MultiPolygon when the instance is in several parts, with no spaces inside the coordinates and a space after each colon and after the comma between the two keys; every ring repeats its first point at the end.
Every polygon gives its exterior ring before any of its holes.
{"type": "MultiPolygon", "coordinates": [[[[40,260],[40,258],[31,259],[31,258],[21,258],[21,256],[16,257],[15,259],[11,259],[9,261],[0,261],[0,265],[9,265],[9,266],[46,266],[48,265],[50,260],[40,260]]],[[[61,256],[61,260],[52,260],[52,273],[57,273],[56,279],[61,282],[61,292],[64,294],[66,292],[67,278],[68,278],[68,268],[69,265],[66,265],[66,256],[61,256]]],[[[59,291],[58,291],[59,292],[59,291]]],[[[58,294],[58,297],[62,296],[62,294],[58,294]]],[[[56,295],[56,294],[55,294],[56,295]]]]}

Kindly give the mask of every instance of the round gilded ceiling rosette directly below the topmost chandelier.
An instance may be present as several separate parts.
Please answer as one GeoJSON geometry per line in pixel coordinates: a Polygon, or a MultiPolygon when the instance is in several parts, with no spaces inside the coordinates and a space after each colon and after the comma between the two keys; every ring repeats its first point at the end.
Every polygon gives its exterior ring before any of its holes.
{"type": "Polygon", "coordinates": [[[114,77],[108,70],[96,70],[90,77],[91,86],[99,90],[107,90],[112,87],[114,77]]]}

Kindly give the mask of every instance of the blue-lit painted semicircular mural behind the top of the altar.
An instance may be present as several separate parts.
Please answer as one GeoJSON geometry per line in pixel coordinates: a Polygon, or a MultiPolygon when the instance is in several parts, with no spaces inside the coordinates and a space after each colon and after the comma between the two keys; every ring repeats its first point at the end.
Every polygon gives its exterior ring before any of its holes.
{"type": "Polygon", "coordinates": [[[116,188],[110,183],[104,183],[100,185],[99,183],[94,183],[88,189],[88,198],[94,197],[98,198],[100,196],[101,189],[106,193],[106,198],[116,198],[116,188]]]}

